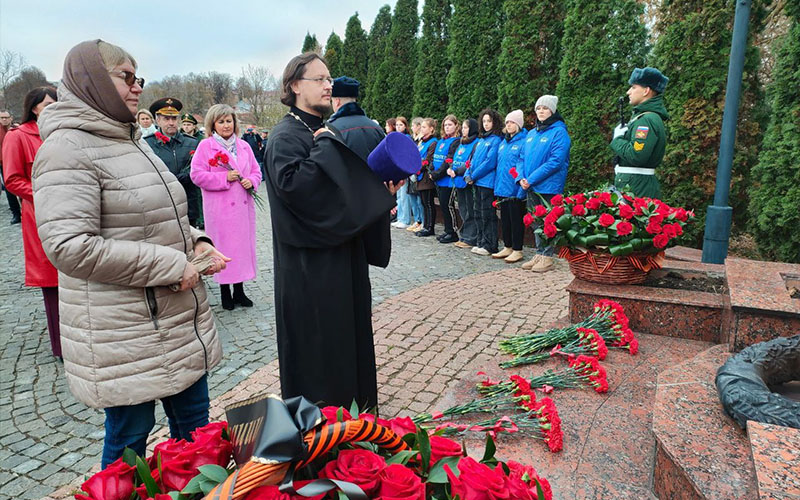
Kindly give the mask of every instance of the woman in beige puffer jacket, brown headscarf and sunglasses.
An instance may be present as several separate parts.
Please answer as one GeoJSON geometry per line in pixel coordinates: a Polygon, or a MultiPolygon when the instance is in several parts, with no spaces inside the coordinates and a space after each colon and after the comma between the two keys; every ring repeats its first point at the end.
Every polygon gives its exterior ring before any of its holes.
{"type": "Polygon", "coordinates": [[[156,399],[172,437],[188,439],[208,422],[205,379],[222,350],[189,261],[211,248],[219,271],[224,257],[189,226],[183,187],[141,139],[135,61],[104,43],[83,42],[67,56],[59,106],[39,120],[33,187],[42,246],[59,271],[69,388],[106,409],[105,467],[125,446],[144,453],[156,399]],[[169,288],[176,284],[181,291],[169,288]],[[186,391],[192,404],[172,399],[186,391]],[[193,414],[182,415],[184,406],[193,414]]]}

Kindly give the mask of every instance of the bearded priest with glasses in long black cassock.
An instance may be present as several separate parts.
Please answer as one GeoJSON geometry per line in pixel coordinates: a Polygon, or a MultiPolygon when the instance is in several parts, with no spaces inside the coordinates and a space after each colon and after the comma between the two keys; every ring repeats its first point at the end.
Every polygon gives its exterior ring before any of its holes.
{"type": "Polygon", "coordinates": [[[385,185],[324,126],[332,86],[319,55],[289,62],[281,102],[290,111],[270,131],[264,155],[281,393],[374,408],[369,265],[389,264],[397,186],[385,185]]]}

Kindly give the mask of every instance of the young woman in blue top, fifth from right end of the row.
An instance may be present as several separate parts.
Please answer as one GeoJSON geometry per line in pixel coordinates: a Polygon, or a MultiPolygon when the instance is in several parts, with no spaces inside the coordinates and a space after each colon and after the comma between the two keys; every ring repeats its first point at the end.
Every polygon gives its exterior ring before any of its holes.
{"type": "Polygon", "coordinates": [[[456,189],[453,178],[447,171],[453,166],[453,155],[459,146],[458,118],[447,115],[442,120],[440,139],[436,142],[436,151],[433,153],[433,173],[431,178],[436,183],[436,195],[439,197],[439,207],[444,219],[444,234],[437,236],[439,243],[455,243],[458,235],[453,227],[456,218],[456,189]]]}

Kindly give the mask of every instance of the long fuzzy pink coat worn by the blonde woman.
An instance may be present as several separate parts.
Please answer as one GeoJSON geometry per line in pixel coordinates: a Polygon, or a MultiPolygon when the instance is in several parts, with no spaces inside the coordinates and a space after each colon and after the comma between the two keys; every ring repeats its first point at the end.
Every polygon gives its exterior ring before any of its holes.
{"type": "Polygon", "coordinates": [[[235,158],[213,137],[200,141],[192,158],[192,182],[203,190],[206,233],[214,246],[231,258],[214,280],[241,283],[256,277],[256,208],[250,193],[238,181],[228,182],[227,168],[209,164],[217,153],[225,153],[230,166],[242,178],[250,179],[256,190],[261,184],[261,169],[250,145],[239,138],[235,158]]]}

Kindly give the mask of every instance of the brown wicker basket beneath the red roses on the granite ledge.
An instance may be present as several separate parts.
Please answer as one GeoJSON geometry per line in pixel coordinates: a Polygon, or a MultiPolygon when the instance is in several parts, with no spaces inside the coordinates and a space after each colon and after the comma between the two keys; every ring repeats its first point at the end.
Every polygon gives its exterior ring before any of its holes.
{"type": "Polygon", "coordinates": [[[576,278],[604,285],[638,285],[653,269],[660,269],[664,252],[614,257],[593,249],[586,251],[561,247],[558,256],[569,262],[576,278]]]}

